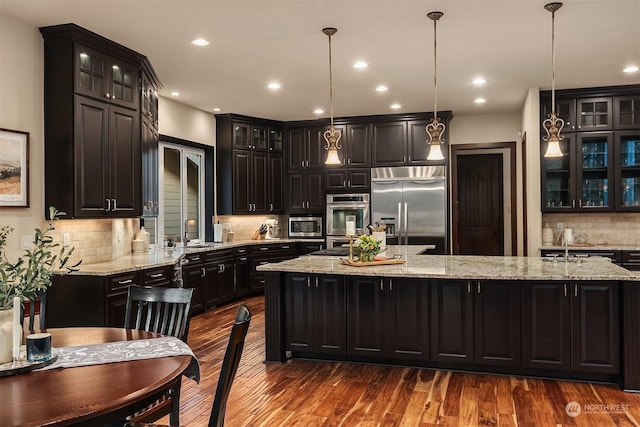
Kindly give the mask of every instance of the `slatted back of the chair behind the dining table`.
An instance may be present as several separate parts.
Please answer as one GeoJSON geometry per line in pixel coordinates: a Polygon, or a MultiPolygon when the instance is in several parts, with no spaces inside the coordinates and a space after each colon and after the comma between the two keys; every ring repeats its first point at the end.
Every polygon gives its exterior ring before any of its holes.
{"type": "Polygon", "coordinates": [[[130,286],[124,326],[171,335],[186,342],[192,294],[191,288],[130,286]],[[134,310],[136,317],[132,325],[134,310]]]}

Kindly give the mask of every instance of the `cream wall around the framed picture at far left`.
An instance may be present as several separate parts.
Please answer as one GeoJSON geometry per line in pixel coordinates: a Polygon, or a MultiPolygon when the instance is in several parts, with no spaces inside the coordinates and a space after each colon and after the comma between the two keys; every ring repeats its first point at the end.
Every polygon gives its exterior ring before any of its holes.
{"type": "Polygon", "coordinates": [[[29,207],[0,208],[0,226],[14,232],[7,256],[20,251],[20,236],[33,236],[44,220],[44,48],[37,28],[0,14],[0,128],[29,132],[29,207]]]}

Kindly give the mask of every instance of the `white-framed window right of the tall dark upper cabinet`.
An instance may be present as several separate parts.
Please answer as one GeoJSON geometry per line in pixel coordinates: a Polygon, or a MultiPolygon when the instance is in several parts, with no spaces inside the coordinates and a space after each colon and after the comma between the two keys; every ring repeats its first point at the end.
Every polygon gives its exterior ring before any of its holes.
{"type": "Polygon", "coordinates": [[[176,244],[185,233],[189,240],[205,240],[204,159],[202,149],[160,143],[158,235],[176,244]]]}

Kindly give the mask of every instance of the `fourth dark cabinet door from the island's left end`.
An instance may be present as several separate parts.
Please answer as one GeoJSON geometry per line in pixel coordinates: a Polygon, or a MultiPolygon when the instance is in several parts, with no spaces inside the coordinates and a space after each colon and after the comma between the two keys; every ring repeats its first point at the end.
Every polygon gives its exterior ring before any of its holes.
{"type": "Polygon", "coordinates": [[[386,280],[388,354],[393,359],[429,358],[429,287],[419,279],[386,280]]]}

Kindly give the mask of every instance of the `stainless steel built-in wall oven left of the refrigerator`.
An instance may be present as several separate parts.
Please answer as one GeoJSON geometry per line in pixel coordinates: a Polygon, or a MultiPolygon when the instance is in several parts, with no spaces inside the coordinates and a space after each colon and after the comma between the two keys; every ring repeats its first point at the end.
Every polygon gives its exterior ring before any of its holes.
{"type": "Polygon", "coordinates": [[[347,215],[356,220],[356,234],[364,234],[369,225],[369,194],[327,194],[327,248],[349,243],[347,215]]]}

